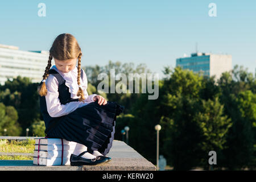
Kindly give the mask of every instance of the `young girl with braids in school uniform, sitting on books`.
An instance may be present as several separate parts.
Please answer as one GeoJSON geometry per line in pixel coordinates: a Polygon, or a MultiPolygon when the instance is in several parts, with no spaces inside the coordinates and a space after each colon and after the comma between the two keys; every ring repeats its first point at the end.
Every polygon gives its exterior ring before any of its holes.
{"type": "Polygon", "coordinates": [[[97,94],[88,96],[81,56],[81,48],[73,35],[57,36],[49,51],[48,65],[38,90],[46,136],[63,138],[86,147],[81,154],[75,151],[71,155],[72,166],[111,160],[105,155],[112,147],[116,117],[124,109],[97,94]],[[55,65],[51,67],[53,58],[55,65]]]}

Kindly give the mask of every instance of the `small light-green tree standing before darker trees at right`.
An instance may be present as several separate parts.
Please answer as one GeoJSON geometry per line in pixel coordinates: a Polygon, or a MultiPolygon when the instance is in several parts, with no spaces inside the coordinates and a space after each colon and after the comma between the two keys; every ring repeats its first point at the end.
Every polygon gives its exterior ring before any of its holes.
{"type": "Polygon", "coordinates": [[[195,121],[200,126],[203,141],[200,147],[203,150],[201,156],[201,165],[208,169],[208,153],[216,151],[218,155],[218,166],[223,166],[222,150],[226,147],[226,134],[232,126],[231,119],[224,115],[224,106],[218,101],[218,97],[214,100],[201,100],[202,105],[199,113],[195,115],[195,121]]]}

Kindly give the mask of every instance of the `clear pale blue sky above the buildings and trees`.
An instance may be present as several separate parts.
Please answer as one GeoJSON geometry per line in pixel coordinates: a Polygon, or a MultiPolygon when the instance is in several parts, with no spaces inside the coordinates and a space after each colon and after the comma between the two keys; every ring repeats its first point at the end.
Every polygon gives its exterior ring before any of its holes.
{"type": "Polygon", "coordinates": [[[82,65],[109,60],[145,63],[162,75],[176,58],[195,52],[224,53],[233,66],[255,73],[256,1],[1,1],[0,44],[49,50],[57,35],[70,33],[82,49],[82,65]],[[38,4],[46,16],[38,16],[38,4]],[[209,3],[217,6],[210,17],[209,3]]]}

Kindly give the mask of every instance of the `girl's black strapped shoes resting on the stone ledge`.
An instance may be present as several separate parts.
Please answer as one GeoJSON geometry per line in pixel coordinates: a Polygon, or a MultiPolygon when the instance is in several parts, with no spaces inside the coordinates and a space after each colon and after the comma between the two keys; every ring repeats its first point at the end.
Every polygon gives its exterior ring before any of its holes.
{"type": "Polygon", "coordinates": [[[94,159],[82,158],[81,156],[84,155],[86,152],[87,151],[84,151],[81,154],[79,154],[78,156],[71,154],[71,157],[70,157],[71,166],[82,166],[82,165],[92,166],[92,165],[97,165],[97,164],[108,162],[108,159],[106,159],[106,158],[94,158],[94,159]]]}

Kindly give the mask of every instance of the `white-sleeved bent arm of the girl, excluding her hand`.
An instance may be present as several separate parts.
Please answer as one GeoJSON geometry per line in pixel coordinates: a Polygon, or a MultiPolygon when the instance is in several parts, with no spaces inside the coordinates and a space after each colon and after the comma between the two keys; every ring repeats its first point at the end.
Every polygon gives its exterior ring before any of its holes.
{"type": "Polygon", "coordinates": [[[65,105],[60,104],[59,92],[58,92],[58,81],[55,76],[49,75],[46,80],[46,105],[47,111],[51,117],[60,117],[62,115],[67,115],[79,107],[82,107],[88,103],[83,103],[79,101],[69,102],[65,105]]]}

